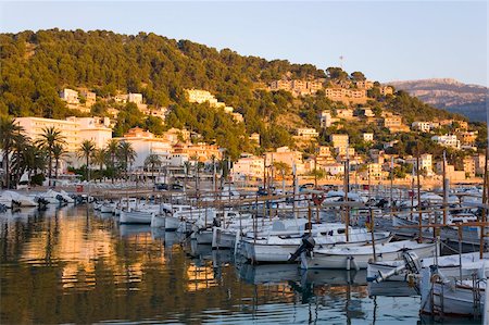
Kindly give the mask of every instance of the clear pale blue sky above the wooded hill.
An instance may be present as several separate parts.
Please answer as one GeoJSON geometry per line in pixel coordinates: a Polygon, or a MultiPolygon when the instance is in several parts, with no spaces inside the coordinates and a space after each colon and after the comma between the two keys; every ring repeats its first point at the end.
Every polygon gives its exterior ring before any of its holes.
{"type": "Polygon", "coordinates": [[[152,32],[379,82],[488,86],[488,10],[486,1],[1,1],[0,30],[152,32]]]}

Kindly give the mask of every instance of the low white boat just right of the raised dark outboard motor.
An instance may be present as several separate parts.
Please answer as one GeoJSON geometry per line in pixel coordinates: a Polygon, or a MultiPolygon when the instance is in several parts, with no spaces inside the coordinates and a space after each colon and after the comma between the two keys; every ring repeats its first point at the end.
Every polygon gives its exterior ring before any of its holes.
{"type": "MultiPolygon", "coordinates": [[[[405,251],[413,251],[419,258],[434,257],[437,243],[418,243],[413,240],[402,240],[375,245],[377,261],[400,260],[405,251]]],[[[312,257],[301,255],[302,268],[367,268],[368,261],[374,257],[373,246],[340,247],[314,249],[312,257]]]]}

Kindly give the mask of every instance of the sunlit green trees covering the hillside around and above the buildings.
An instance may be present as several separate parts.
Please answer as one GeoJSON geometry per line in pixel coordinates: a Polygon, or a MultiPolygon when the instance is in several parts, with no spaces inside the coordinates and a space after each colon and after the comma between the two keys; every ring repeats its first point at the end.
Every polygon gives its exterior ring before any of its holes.
{"type": "MultiPolygon", "coordinates": [[[[50,29],[0,34],[0,115],[51,118],[83,115],[68,110],[59,98],[59,91],[85,87],[98,97],[92,114],[106,115],[109,107],[121,110],[114,136],[134,126],[156,135],[170,127],[187,127],[202,135],[203,140],[226,147],[233,158],[253,150],[248,141],[252,133],[260,133],[262,137],[259,150],[292,146],[293,127],[318,129],[321,111],[343,107],[327,99],[323,91],[299,98],[288,91],[266,91],[263,88],[269,82],[285,75],[292,79],[325,78],[326,84],[364,77],[360,72],[349,76],[340,68],[324,71],[311,64],[243,57],[229,49],[218,51],[152,33],[128,36],[106,30],[50,29]],[[234,107],[243,115],[244,125],[208,104],[189,103],[184,89],[190,88],[209,90],[220,101],[234,107]],[[150,108],[168,107],[165,125],[158,117],[143,116],[133,104],[111,102],[110,97],[117,91],[141,92],[150,108]],[[285,114],[297,115],[300,125],[283,123],[280,116],[285,114]]],[[[406,123],[414,118],[455,116],[426,105],[406,92],[399,91],[387,98],[380,96],[378,88],[369,92],[374,100],[368,105],[374,111],[399,113],[406,123]]],[[[348,129],[359,133],[361,127],[348,129]]],[[[324,143],[327,136],[322,134],[324,143]]]]}

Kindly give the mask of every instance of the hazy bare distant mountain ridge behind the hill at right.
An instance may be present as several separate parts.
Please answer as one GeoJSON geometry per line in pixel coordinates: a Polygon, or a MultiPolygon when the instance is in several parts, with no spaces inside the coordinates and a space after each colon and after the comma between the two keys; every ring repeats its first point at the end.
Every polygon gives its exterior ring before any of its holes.
{"type": "Polygon", "coordinates": [[[386,84],[405,90],[436,108],[465,115],[471,121],[487,121],[487,87],[463,84],[453,78],[390,82],[386,84]]]}

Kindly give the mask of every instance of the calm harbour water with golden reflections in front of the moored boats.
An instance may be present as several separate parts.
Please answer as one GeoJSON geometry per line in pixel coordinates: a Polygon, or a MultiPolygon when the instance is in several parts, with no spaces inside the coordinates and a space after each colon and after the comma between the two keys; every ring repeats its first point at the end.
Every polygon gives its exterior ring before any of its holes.
{"type": "Polygon", "coordinates": [[[2,324],[419,321],[419,297],[369,297],[365,272],[236,263],[83,205],[8,212],[0,224],[2,324]]]}

